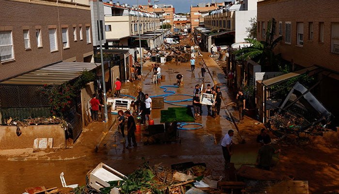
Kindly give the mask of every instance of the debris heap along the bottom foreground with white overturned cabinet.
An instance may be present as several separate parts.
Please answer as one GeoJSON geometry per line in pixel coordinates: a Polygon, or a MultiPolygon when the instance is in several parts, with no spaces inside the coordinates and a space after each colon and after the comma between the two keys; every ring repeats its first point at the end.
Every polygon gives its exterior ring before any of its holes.
{"type": "Polygon", "coordinates": [[[24,194],[262,194],[288,193],[295,189],[308,194],[307,181],[295,181],[254,167],[242,166],[236,171],[234,164],[229,163],[232,165],[225,169],[225,181],[222,177],[212,177],[205,163],[184,162],[168,168],[161,163],[151,166],[143,160],[139,169],[126,176],[100,163],[86,175],[86,186],[66,185],[62,173],[63,188],[40,188],[39,192],[35,192],[37,187],[27,188],[24,194]]]}

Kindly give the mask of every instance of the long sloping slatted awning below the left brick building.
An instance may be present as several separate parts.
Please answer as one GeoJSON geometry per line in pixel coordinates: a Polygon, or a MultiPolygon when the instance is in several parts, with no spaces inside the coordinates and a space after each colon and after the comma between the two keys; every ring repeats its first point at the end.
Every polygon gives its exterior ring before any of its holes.
{"type": "Polygon", "coordinates": [[[61,85],[65,81],[79,77],[84,70],[92,70],[100,65],[96,63],[60,62],[2,81],[0,85],[61,85]]]}

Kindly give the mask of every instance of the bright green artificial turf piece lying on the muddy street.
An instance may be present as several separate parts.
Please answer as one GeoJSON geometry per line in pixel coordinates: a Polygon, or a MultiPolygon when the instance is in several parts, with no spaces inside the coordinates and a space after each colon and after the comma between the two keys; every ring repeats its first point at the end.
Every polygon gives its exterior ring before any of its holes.
{"type": "Polygon", "coordinates": [[[194,122],[194,116],[190,107],[170,107],[168,110],[161,110],[160,123],[165,122],[194,122]]]}

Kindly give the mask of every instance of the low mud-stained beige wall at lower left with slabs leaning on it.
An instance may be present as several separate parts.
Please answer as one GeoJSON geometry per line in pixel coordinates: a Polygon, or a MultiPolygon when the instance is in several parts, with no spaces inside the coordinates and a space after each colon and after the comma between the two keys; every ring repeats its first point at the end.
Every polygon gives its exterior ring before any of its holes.
{"type": "Polygon", "coordinates": [[[65,130],[60,125],[38,125],[20,127],[22,134],[16,135],[16,126],[0,126],[0,149],[33,147],[36,138],[53,138],[53,147],[65,147],[65,130]]]}

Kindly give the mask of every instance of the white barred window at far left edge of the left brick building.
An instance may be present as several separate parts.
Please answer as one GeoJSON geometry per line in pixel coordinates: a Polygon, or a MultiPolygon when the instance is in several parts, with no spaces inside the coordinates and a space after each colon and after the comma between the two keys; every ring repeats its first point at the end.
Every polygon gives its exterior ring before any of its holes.
{"type": "Polygon", "coordinates": [[[0,62],[14,59],[12,31],[0,32],[0,62]]]}

